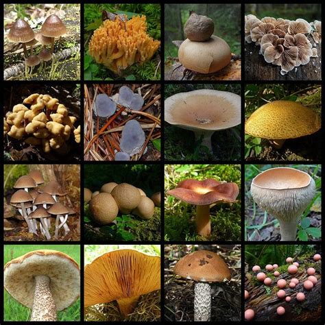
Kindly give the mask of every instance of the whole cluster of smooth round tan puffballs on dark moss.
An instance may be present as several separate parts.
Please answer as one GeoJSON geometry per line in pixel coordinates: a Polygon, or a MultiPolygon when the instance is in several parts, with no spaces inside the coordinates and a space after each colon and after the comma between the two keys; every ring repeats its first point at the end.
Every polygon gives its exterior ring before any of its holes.
{"type": "Polygon", "coordinates": [[[109,182],[101,186],[99,193],[92,193],[85,188],[84,202],[89,203],[93,220],[97,224],[106,225],[114,221],[119,212],[131,213],[143,220],[150,219],[154,215],[155,206],[160,206],[160,193],[154,193],[149,199],[136,186],[109,182]]]}

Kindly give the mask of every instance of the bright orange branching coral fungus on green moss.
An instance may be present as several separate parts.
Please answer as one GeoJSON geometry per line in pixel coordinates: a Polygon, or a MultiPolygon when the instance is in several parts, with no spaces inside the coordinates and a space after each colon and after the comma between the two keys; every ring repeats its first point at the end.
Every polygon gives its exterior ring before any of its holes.
{"type": "Polygon", "coordinates": [[[135,62],[150,60],[159,45],[147,34],[145,16],[133,16],[130,21],[104,21],[91,38],[89,53],[97,63],[121,73],[135,62]]]}

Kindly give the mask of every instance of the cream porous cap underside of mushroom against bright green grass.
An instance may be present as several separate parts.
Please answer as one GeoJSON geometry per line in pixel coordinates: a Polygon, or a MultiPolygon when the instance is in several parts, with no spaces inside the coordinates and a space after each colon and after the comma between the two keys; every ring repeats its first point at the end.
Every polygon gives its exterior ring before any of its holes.
{"type": "Polygon", "coordinates": [[[32,309],[34,276],[51,280],[51,293],[58,311],[69,307],[80,295],[79,265],[67,254],[56,250],[35,250],[5,264],[4,287],[18,302],[32,309]]]}

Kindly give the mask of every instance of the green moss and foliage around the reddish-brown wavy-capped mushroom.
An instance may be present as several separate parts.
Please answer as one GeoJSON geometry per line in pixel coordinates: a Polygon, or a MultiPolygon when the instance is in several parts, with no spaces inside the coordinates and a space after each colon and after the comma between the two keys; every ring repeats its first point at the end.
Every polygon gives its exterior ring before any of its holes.
{"type": "MultiPolygon", "coordinates": [[[[165,191],[174,189],[181,180],[215,178],[235,182],[241,186],[239,165],[165,165],[165,191]]],[[[210,208],[211,235],[209,240],[239,241],[241,237],[241,199],[230,205],[221,203],[210,208]]],[[[165,198],[165,240],[205,241],[196,234],[195,206],[180,202],[175,197],[165,198]]]]}

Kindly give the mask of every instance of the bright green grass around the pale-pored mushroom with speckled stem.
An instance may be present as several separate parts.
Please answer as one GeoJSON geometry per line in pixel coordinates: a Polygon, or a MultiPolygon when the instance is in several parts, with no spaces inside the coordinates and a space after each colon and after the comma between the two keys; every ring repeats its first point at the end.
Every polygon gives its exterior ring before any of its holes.
{"type": "MultiPolygon", "coordinates": [[[[68,254],[80,265],[80,246],[79,245],[5,245],[4,263],[8,263],[13,258],[22,256],[33,250],[58,250],[68,254]]],[[[10,294],[4,290],[4,321],[5,322],[27,322],[32,311],[14,300],[10,294]]],[[[80,299],[64,311],[58,311],[58,321],[79,321],[80,320],[80,299]]]]}

